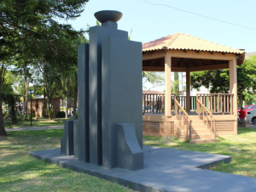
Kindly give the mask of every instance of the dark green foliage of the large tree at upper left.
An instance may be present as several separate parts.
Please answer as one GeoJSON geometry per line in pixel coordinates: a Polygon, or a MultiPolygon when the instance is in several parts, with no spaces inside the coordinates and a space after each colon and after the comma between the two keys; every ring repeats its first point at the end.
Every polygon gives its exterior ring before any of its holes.
{"type": "MultiPolygon", "coordinates": [[[[59,20],[76,19],[84,11],[87,2],[88,0],[0,2],[0,95],[5,71],[10,63],[15,62],[15,71],[24,76],[26,99],[28,85],[32,81],[32,66],[49,65],[55,66],[56,71],[70,70],[69,65],[77,62],[70,42],[83,31],[75,31],[71,25],[61,24],[59,20]]],[[[1,102],[0,98],[0,106],[1,102]]],[[[2,110],[0,135],[7,135],[2,110]]]]}

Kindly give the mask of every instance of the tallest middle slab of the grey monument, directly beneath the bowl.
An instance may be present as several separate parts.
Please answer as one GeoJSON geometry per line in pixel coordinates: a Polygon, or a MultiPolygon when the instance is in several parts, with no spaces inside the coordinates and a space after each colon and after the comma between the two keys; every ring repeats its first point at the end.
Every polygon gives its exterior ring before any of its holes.
{"type": "Polygon", "coordinates": [[[108,37],[128,39],[128,32],[117,30],[115,22],[106,24],[90,27],[89,140],[90,163],[95,165],[102,165],[102,40],[108,37]]]}

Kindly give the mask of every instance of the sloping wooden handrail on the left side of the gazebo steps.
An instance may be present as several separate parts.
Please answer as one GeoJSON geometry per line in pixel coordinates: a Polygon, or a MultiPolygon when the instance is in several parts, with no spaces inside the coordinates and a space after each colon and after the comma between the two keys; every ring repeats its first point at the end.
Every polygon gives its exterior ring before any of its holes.
{"type": "Polygon", "coordinates": [[[179,126],[186,126],[186,132],[184,134],[184,138],[187,139],[188,138],[188,132],[189,132],[189,140],[191,140],[191,124],[192,124],[192,120],[190,119],[188,113],[183,109],[182,105],[179,104],[179,102],[177,101],[177,99],[174,99],[174,109],[175,109],[175,116],[177,117],[178,121],[179,121],[179,126]],[[179,115],[177,116],[177,113],[179,113],[179,115]],[[182,120],[183,123],[182,123],[182,120]],[[186,125],[185,125],[185,122],[186,125]]]}

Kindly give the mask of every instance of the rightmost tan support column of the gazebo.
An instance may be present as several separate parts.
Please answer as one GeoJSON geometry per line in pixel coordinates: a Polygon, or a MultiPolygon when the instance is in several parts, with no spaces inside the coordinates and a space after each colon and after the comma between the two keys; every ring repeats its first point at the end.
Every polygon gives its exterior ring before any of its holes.
{"type": "MultiPolygon", "coordinates": [[[[230,93],[234,94],[233,97],[233,112],[237,119],[237,71],[236,71],[236,58],[229,61],[230,65],[230,93]]],[[[234,130],[237,134],[237,121],[234,122],[234,130]]]]}

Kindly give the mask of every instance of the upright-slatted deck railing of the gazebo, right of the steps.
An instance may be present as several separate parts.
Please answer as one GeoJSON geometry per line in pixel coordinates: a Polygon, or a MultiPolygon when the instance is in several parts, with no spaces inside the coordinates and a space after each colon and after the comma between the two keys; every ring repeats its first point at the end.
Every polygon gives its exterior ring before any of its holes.
{"type": "MultiPolygon", "coordinates": [[[[233,110],[233,97],[234,94],[229,93],[198,93],[196,94],[196,100],[199,99],[204,104],[207,110],[212,113],[230,113],[234,114],[233,110]]],[[[198,113],[200,110],[196,107],[198,113]]]]}

